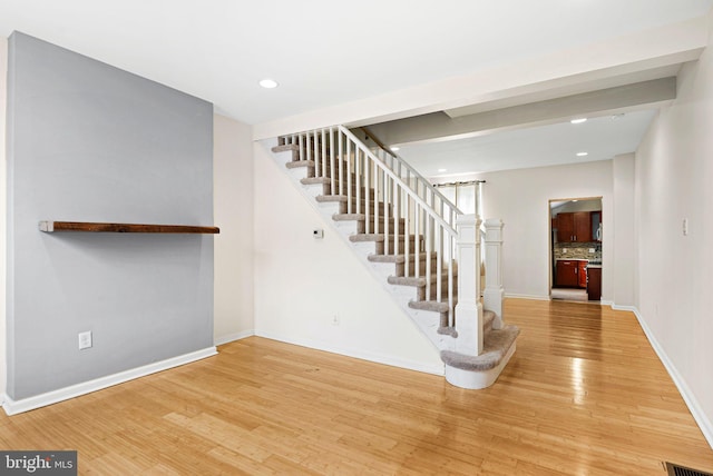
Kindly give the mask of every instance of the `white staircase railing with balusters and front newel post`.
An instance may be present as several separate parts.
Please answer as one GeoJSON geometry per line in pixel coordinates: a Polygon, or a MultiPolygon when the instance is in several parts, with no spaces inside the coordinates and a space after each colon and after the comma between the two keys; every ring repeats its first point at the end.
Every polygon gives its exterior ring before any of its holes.
{"type": "Polygon", "coordinates": [[[423,300],[448,305],[448,327],[463,337],[455,350],[480,354],[479,217],[465,216],[401,158],[370,150],[342,126],[279,140],[299,146],[299,161],[314,168],[311,180],[363,218],[364,234],[383,236],[383,254],[403,260],[404,277],[424,282],[423,300]]]}

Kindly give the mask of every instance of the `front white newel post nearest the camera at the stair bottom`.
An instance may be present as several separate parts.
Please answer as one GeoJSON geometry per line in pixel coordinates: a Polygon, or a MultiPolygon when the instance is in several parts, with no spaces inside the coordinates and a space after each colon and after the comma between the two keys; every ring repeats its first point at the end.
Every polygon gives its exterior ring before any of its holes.
{"type": "Polygon", "coordinates": [[[458,305],[456,306],[456,350],[477,356],[482,353],[482,305],[480,304],[480,219],[460,215],[458,231],[458,305]]]}

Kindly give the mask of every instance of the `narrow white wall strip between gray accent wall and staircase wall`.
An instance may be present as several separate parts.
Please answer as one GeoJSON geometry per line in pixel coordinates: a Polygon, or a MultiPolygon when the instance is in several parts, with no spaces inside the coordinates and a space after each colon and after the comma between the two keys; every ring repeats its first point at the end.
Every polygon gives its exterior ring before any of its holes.
{"type": "Polygon", "coordinates": [[[252,128],[224,116],[213,122],[215,344],[253,334],[252,128]]]}

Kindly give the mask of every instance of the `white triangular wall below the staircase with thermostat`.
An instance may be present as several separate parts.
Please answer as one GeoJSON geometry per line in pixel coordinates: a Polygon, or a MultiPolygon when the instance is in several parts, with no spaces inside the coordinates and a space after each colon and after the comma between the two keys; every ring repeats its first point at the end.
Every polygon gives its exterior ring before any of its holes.
{"type": "Polygon", "coordinates": [[[283,341],[442,373],[431,343],[285,170],[255,142],[255,331],[283,341]],[[324,229],[324,239],[312,230],[324,229]],[[338,315],[340,325],[332,324],[338,315]]]}

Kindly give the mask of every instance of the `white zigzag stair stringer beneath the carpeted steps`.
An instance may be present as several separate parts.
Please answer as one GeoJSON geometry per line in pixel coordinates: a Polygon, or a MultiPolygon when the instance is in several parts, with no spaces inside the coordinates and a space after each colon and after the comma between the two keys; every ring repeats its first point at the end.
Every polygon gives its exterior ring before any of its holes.
{"type": "MultiPolygon", "coordinates": [[[[270,148],[270,147],[267,147],[270,148]]],[[[270,155],[277,162],[280,168],[287,171],[290,181],[305,197],[310,205],[322,216],[325,222],[331,224],[332,229],[354,250],[359,261],[371,272],[374,279],[390,294],[399,308],[410,318],[418,329],[429,339],[438,350],[451,350],[455,348],[455,337],[440,334],[440,313],[413,309],[409,303],[414,300],[416,290],[406,286],[390,285],[389,276],[395,274],[395,265],[389,262],[370,261],[369,255],[374,254],[375,245],[370,241],[353,242],[350,236],[356,234],[356,221],[335,221],[334,215],[339,214],[339,204],[318,202],[316,197],[322,195],[321,184],[304,185],[300,180],[307,177],[306,167],[287,168],[286,165],[293,161],[293,151],[271,151],[270,155]]]]}

